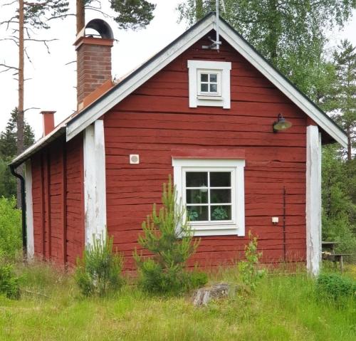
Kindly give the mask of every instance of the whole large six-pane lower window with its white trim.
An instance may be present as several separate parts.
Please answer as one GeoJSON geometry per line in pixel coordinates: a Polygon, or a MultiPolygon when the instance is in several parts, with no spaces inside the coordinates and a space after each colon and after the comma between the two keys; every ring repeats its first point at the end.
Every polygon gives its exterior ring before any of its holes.
{"type": "Polygon", "coordinates": [[[173,159],[174,184],[196,236],[244,236],[244,164],[173,159]]]}

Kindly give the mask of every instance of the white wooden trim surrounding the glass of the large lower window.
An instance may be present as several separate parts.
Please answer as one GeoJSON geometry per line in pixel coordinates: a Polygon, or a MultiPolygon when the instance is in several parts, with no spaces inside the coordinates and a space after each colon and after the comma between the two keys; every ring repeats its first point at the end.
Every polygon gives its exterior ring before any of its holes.
{"type": "Polygon", "coordinates": [[[232,206],[231,218],[234,220],[226,222],[194,222],[192,229],[194,236],[225,236],[237,235],[245,236],[245,200],[244,200],[244,159],[172,159],[174,184],[177,189],[177,199],[182,200],[185,205],[184,174],[192,169],[201,172],[219,169],[220,171],[231,171],[234,169],[234,179],[232,184],[236,184],[234,191],[231,191],[232,206]],[[235,200],[235,202],[234,202],[235,200]],[[234,208],[233,208],[234,206],[234,208]]]}

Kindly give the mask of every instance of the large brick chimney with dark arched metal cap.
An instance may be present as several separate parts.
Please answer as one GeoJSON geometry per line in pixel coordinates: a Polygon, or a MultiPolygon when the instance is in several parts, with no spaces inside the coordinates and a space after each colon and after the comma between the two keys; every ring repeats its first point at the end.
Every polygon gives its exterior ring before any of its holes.
{"type": "Polygon", "coordinates": [[[108,23],[94,19],[78,33],[75,41],[77,51],[77,100],[78,110],[83,107],[83,100],[100,85],[111,80],[111,48],[114,39],[108,23]],[[98,37],[88,35],[91,28],[98,37]]]}

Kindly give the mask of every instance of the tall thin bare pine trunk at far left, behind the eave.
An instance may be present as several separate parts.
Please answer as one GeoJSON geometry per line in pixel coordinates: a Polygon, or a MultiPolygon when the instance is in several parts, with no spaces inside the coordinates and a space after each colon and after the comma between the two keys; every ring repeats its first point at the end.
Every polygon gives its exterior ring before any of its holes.
{"type": "MultiPolygon", "coordinates": [[[[17,114],[17,154],[23,152],[23,83],[24,83],[24,46],[23,46],[23,0],[19,0],[19,105],[17,114]]],[[[23,174],[23,167],[17,172],[23,174]]],[[[17,182],[17,206],[21,208],[21,184],[17,182]]]]}

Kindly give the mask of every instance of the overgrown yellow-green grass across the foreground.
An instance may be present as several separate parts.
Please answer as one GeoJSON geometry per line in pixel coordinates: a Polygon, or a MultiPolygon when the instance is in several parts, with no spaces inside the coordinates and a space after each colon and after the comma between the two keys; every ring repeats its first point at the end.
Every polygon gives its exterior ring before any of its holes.
{"type": "MultiPolygon", "coordinates": [[[[253,295],[194,308],[189,297],[160,298],[125,285],[83,298],[73,278],[46,264],[20,267],[23,296],[0,297],[0,340],[356,340],[356,303],[318,299],[299,271],[275,271],[253,295]]],[[[355,278],[355,270],[348,276],[355,278]]],[[[238,280],[236,270],[211,281],[238,280]]]]}

